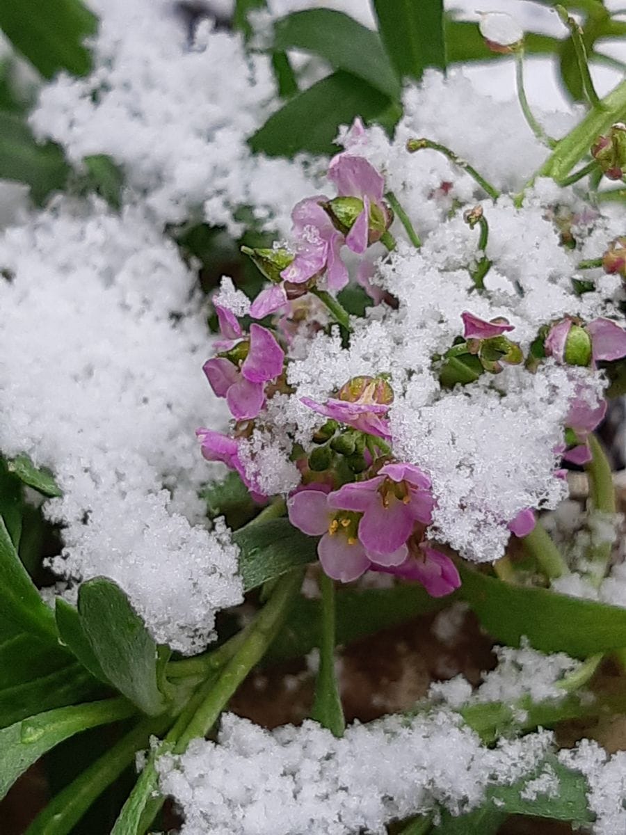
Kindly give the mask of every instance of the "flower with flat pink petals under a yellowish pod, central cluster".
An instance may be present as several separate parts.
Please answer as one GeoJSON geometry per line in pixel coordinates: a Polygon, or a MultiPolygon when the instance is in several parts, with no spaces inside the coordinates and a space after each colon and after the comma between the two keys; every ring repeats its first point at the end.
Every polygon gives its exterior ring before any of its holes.
{"type": "Polygon", "coordinates": [[[382,377],[353,377],[342,386],[337,397],[318,403],[310,397],[301,402],[324,417],[345,423],[376,438],[391,438],[386,413],[393,401],[391,386],[382,377]]]}

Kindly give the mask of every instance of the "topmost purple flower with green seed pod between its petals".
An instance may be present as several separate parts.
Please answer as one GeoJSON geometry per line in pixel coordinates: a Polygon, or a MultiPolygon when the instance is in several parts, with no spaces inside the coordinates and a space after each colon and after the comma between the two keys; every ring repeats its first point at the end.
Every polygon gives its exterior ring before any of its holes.
{"type": "Polygon", "coordinates": [[[327,200],[324,208],[346,235],[348,249],[362,255],[381,239],[393,220],[393,212],[383,200],[385,180],[367,159],[346,152],[331,159],[328,177],[338,196],[327,200]]]}

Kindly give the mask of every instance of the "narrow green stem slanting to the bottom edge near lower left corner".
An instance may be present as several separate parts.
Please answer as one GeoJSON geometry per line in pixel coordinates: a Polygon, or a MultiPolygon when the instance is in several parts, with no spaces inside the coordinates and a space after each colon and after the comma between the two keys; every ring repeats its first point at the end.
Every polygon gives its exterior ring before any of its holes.
{"type": "Polygon", "coordinates": [[[162,733],[170,722],[170,716],[140,721],[103,757],[53,797],[28,827],[26,835],[67,835],[71,832],[96,797],[134,761],[137,751],[148,746],[150,736],[162,733]]]}

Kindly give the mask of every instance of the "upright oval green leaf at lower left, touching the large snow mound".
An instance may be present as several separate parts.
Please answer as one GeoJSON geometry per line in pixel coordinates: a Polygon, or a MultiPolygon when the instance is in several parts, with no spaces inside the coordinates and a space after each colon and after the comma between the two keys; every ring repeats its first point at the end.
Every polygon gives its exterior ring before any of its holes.
{"type": "Polygon", "coordinates": [[[162,713],[157,646],[119,585],[104,577],[83,583],[78,614],[104,676],[144,713],[162,713]]]}

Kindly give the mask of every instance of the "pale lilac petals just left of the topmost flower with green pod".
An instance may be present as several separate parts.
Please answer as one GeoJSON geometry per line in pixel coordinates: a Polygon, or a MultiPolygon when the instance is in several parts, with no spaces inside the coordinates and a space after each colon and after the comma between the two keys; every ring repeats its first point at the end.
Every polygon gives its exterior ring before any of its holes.
{"type": "Polygon", "coordinates": [[[319,195],[307,197],[295,205],[291,220],[296,255],[280,276],[291,284],[302,284],[321,276],[326,270],[328,286],[339,291],[348,283],[348,271],[339,255],[345,240],[320,205],[327,200],[319,195]]]}

